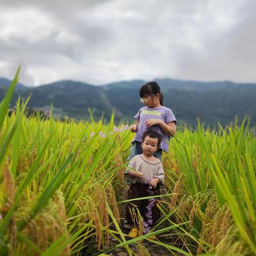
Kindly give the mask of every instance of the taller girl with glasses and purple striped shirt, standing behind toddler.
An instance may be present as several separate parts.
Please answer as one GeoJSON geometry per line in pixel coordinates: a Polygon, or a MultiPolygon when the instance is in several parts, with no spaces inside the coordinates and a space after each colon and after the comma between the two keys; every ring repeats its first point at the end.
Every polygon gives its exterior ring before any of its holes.
{"type": "MultiPolygon", "coordinates": [[[[140,88],[140,101],[145,107],[140,108],[134,116],[136,124],[131,125],[131,132],[135,132],[132,141],[131,154],[128,161],[134,156],[142,154],[141,141],[142,135],[146,131],[153,130],[162,136],[162,142],[159,144],[155,156],[162,160],[162,151],[168,152],[170,137],[176,133],[176,118],[170,108],[163,106],[163,93],[156,82],[149,82],[140,88]]],[[[130,185],[129,177],[125,179],[130,185]]],[[[124,228],[131,229],[127,221],[124,222],[124,228]]]]}

